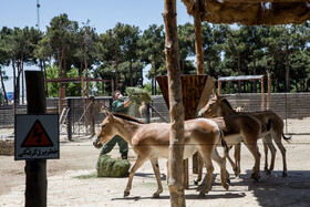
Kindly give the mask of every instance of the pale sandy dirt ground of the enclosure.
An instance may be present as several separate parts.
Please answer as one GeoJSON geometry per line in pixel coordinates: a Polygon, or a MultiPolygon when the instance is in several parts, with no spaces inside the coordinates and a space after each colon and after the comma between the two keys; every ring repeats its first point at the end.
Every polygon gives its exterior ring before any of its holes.
{"type": "MultiPolygon", "coordinates": [[[[309,120],[308,120],[309,121],[309,120]]],[[[290,121],[296,123],[292,132],[309,133],[309,122],[302,120],[290,121]],[[297,128],[297,130],[296,130],[297,128]]],[[[11,134],[12,130],[0,130],[0,135],[11,134]]],[[[275,170],[271,175],[265,175],[265,155],[259,141],[261,153],[259,182],[250,178],[254,159],[248,149],[241,151],[241,176],[236,178],[231,167],[231,185],[225,190],[219,184],[219,167],[215,166],[213,189],[204,198],[197,195],[202,185],[193,184],[196,175],[192,174],[189,161],[190,185],[185,190],[186,206],[310,206],[310,135],[293,135],[291,143],[283,144],[287,148],[288,177],[281,177],[282,157],[277,151],[275,170]]],[[[100,153],[92,146],[87,137],[66,141],[61,136],[60,159],[48,159],[48,206],[169,206],[169,192],[166,184],[166,161],[159,159],[162,183],[164,193],[161,198],[152,198],[156,190],[156,180],[151,163],[145,163],[137,172],[133,180],[131,195],[123,197],[127,177],[124,178],[97,178],[95,177],[95,163],[100,153]]],[[[232,155],[232,153],[230,153],[232,155]]],[[[111,153],[113,157],[120,156],[118,148],[111,153]]],[[[133,149],[130,149],[132,165],[135,161],[133,149]]],[[[24,206],[24,161],[14,161],[13,156],[0,156],[0,206],[24,206]]],[[[204,170],[205,175],[205,170],[204,170]]]]}

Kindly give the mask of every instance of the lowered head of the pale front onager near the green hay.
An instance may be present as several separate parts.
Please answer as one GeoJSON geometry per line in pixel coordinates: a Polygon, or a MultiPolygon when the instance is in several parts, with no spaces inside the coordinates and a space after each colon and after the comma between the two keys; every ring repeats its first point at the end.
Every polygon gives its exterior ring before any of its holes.
{"type": "Polygon", "coordinates": [[[116,135],[115,123],[113,123],[113,114],[107,111],[104,111],[104,113],[106,114],[106,117],[102,122],[101,128],[93,137],[93,145],[96,148],[101,148],[105,143],[116,135]]]}

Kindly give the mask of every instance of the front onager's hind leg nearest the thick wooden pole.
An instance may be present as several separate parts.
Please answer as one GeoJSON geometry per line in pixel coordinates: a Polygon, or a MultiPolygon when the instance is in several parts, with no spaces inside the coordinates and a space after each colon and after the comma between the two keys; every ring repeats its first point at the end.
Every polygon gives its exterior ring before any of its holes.
{"type": "Polygon", "coordinates": [[[207,168],[207,182],[205,188],[200,192],[200,195],[207,194],[211,187],[211,179],[214,173],[214,166],[211,162],[211,151],[213,151],[211,147],[204,147],[202,151],[199,151],[200,155],[203,156],[205,166],[207,168]]]}

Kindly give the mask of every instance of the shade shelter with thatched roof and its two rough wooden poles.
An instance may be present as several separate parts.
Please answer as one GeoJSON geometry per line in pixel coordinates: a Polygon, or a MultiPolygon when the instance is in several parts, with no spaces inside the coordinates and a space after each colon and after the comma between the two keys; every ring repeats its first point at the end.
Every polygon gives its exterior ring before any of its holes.
{"type": "MultiPolygon", "coordinates": [[[[202,22],[275,25],[302,23],[310,19],[309,0],[182,0],[194,17],[197,74],[203,74],[202,22]]],[[[186,206],[183,188],[184,106],[179,72],[176,0],[164,0],[165,54],[172,122],[169,151],[170,206],[186,206]]]]}

